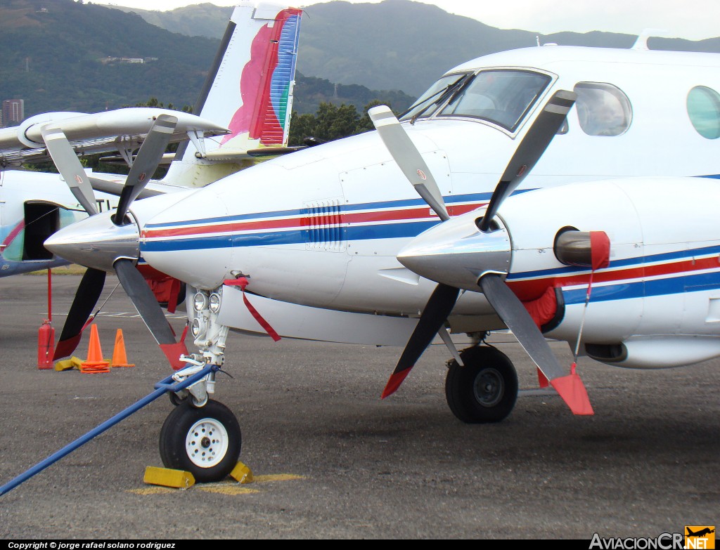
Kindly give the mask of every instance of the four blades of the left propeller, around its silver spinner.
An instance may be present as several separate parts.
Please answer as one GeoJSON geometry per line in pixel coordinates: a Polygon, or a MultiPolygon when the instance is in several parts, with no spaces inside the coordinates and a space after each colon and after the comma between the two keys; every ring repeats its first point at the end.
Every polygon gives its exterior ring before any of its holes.
{"type": "MultiPolygon", "coordinates": [[[[118,228],[132,223],[127,216],[128,209],[158,168],[177,122],[176,116],[161,114],[148,132],[130,173],[127,175],[117,210],[112,216],[112,223],[118,228]]],[[[85,208],[89,216],[95,216],[97,214],[95,196],[89,179],[65,135],[59,129],[48,127],[42,130],[42,136],[45,138],[48,152],[53,158],[55,166],[70,186],[73,195],[78,198],[78,202],[85,208]]],[[[185,350],[184,344],[176,344],[175,335],[155,296],[148,284],[145,283],[143,275],[135,268],[137,259],[137,257],[131,259],[124,255],[112,257],[112,268],[117,273],[122,288],[130,296],[132,303],[167,355],[168,360],[174,367],[179,367],[177,359],[179,354],[185,350]]],[[[102,293],[104,282],[104,270],[96,267],[87,268],[73,299],[53,359],[67,357],[77,347],[82,331],[102,293]]]]}

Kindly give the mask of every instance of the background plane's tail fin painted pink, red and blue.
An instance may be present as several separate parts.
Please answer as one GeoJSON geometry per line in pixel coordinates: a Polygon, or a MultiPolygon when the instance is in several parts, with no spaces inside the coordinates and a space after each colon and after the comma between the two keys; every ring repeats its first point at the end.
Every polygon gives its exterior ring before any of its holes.
{"type": "Polygon", "coordinates": [[[233,11],[194,114],[230,129],[181,146],[164,181],[200,187],[287,145],[302,10],[243,4],[233,11]]]}

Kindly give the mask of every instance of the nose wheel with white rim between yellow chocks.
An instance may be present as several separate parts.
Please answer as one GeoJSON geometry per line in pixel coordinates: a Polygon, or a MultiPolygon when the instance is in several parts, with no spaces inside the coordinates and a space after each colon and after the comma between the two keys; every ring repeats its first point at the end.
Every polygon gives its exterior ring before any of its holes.
{"type": "Polygon", "coordinates": [[[194,408],[184,400],[160,431],[160,457],[168,468],[192,473],[198,482],[220,481],[233,471],[240,456],[240,424],[222,403],[208,400],[194,408]]]}

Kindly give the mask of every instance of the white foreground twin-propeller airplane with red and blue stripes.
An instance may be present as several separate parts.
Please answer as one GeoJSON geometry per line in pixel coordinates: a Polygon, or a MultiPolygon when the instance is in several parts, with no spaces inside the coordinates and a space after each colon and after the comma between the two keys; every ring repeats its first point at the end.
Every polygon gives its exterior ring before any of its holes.
{"type": "MultiPolygon", "coordinates": [[[[45,246],[117,272],[174,367],[188,365],[178,380],[220,369],[228,330],[266,330],[405,346],[385,397],[438,334],[455,357],[451,411],[495,422],[518,380],[480,344],[508,327],[541,382],[591,414],[545,336],[621,367],[720,355],[718,90],[719,55],[649,51],[644,39],[488,55],[449,70],[400,122],[372,109],[377,132],[125,203],[45,246]],[[199,352],[181,355],[138,262],[186,283],[199,352]],[[458,352],[448,330],[477,345],[458,352]]],[[[173,395],[186,399],[161,431],[166,466],[201,481],[240,452],[214,391],[212,372],[173,395]],[[195,437],[199,426],[212,437],[195,437]]]]}

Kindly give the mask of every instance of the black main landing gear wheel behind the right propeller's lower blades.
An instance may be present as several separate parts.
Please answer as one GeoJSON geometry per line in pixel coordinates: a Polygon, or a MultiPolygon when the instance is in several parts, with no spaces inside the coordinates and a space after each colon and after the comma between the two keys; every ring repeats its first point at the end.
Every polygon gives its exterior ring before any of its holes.
{"type": "Polygon", "coordinates": [[[460,353],[465,366],[450,363],[445,396],[452,413],[469,424],[500,422],[515,407],[518,374],[508,356],[477,346],[460,353]]]}

